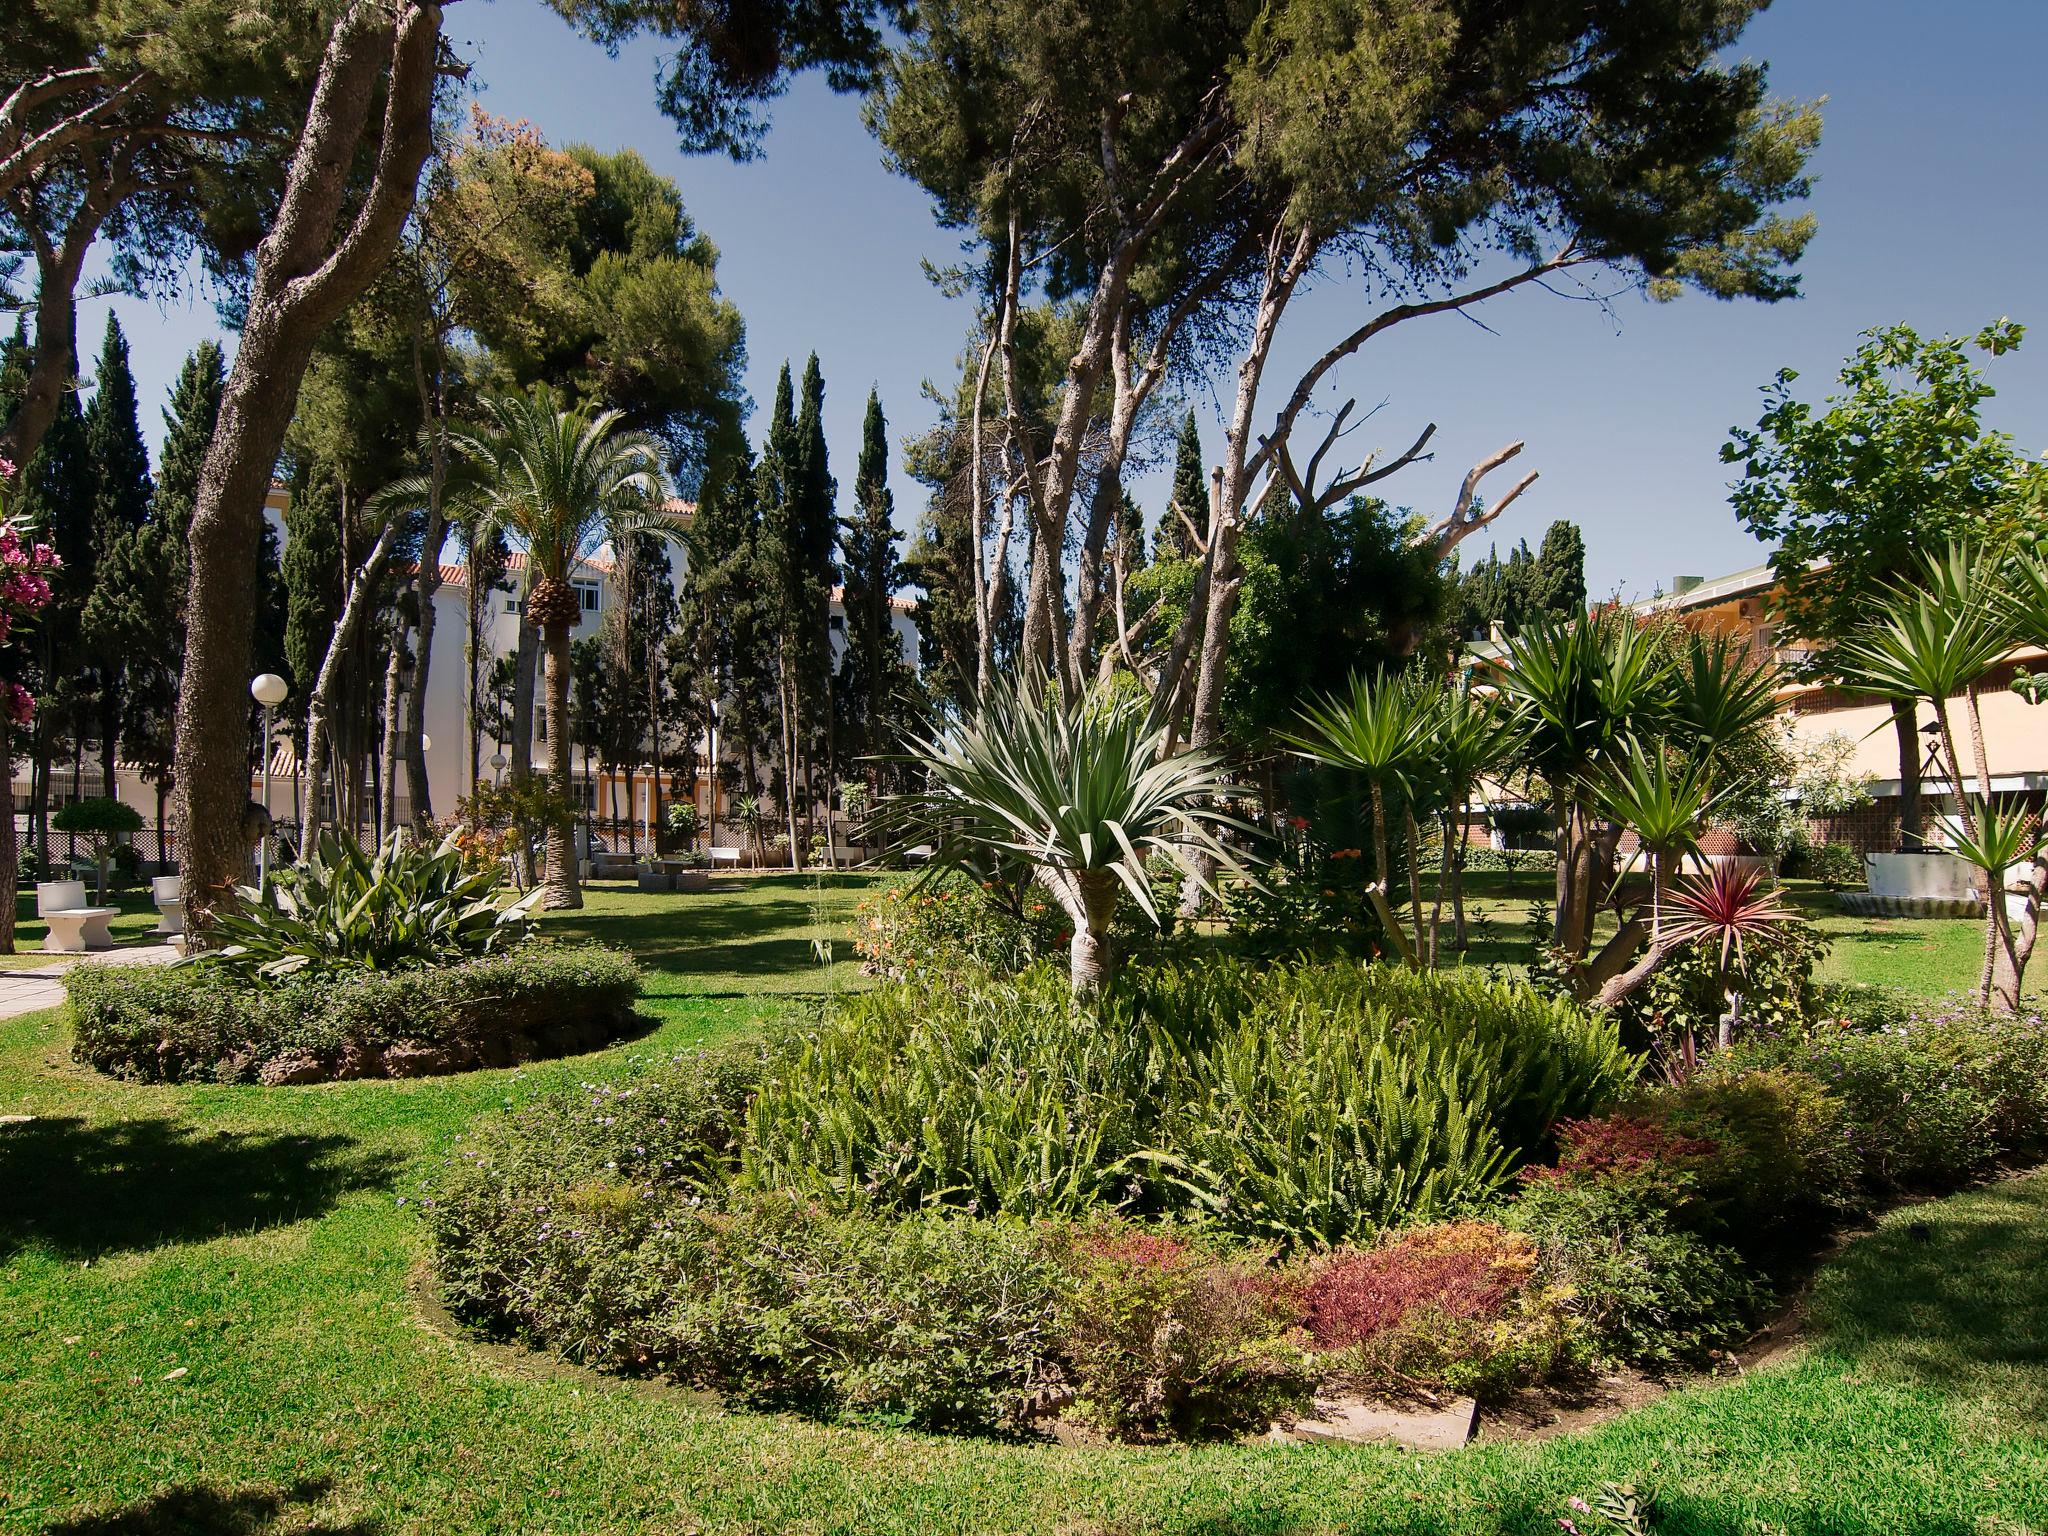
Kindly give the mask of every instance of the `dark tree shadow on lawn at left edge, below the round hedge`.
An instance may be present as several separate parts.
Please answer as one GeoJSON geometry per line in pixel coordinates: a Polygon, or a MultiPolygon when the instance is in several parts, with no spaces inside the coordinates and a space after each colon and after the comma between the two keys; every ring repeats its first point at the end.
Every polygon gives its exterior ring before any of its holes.
{"type": "Polygon", "coordinates": [[[100,1257],[283,1227],[395,1174],[393,1155],[348,1137],[29,1120],[0,1126],[0,1255],[37,1245],[100,1257]]]}

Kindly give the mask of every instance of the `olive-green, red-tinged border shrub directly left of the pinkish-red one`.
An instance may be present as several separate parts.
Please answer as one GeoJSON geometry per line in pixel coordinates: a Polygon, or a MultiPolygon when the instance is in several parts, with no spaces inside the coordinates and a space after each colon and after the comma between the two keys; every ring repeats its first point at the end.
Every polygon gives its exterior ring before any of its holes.
{"type": "Polygon", "coordinates": [[[1059,1331],[1077,1417],[1126,1440],[1204,1438],[1307,1401],[1298,1294],[1255,1255],[1096,1223],[1065,1264],[1059,1331]]]}

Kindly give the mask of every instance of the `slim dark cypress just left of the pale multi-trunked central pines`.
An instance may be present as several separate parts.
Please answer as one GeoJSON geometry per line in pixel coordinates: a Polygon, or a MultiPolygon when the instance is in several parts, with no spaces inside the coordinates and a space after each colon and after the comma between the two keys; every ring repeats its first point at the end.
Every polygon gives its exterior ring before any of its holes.
{"type": "Polygon", "coordinates": [[[889,424],[881,393],[868,391],[854,473],[854,516],[840,524],[846,659],[840,666],[848,756],[887,750],[889,700],[903,668],[889,600],[903,584],[897,559],[895,498],[889,494],[889,424]]]}

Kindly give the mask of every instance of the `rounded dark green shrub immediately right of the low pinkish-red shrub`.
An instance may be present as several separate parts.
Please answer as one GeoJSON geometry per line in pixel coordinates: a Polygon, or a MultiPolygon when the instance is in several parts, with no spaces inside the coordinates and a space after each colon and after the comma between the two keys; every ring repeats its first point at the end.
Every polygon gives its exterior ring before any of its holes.
{"type": "Polygon", "coordinates": [[[1696,1362],[1741,1337],[1763,1303],[1737,1253],[1673,1227],[1640,1190],[1532,1184],[1503,1221],[1536,1241],[1534,1284],[1602,1362],[1696,1362]]]}

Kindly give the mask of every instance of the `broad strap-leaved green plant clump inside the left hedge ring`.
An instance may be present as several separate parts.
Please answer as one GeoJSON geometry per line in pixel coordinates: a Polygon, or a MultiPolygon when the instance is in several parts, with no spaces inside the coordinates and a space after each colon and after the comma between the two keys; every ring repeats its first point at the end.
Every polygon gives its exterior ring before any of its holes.
{"type": "Polygon", "coordinates": [[[469,868],[455,838],[424,848],[399,829],[371,856],[330,829],[311,858],[236,895],[240,905],[215,915],[223,942],[190,965],[283,981],[453,965],[508,948],[532,934],[528,911],[541,887],[500,905],[498,877],[469,868]]]}

